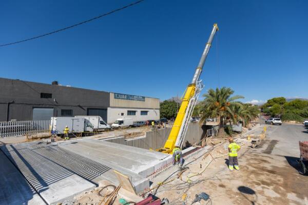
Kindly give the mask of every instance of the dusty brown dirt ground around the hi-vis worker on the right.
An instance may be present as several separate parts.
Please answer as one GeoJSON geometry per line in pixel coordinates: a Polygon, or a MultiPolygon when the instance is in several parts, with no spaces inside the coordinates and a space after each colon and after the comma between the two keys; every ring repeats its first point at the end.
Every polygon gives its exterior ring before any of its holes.
{"type": "MultiPolygon", "coordinates": [[[[211,199],[201,201],[201,204],[308,204],[308,177],[299,174],[294,160],[272,153],[277,143],[278,140],[272,140],[269,135],[258,148],[252,149],[250,142],[241,139],[240,171],[229,171],[228,157],[224,156],[213,160],[202,174],[188,180],[187,176],[202,172],[213,159],[211,156],[202,157],[188,165],[189,170],[182,174],[182,180],[176,179],[161,186],[157,196],[167,197],[170,204],[182,204],[184,193],[187,194],[185,204],[191,204],[195,195],[201,192],[207,193],[211,199]]],[[[226,146],[227,143],[217,148],[219,152],[215,149],[213,157],[226,153],[226,146]]],[[[171,170],[153,179],[153,185],[170,173],[171,170]]]]}

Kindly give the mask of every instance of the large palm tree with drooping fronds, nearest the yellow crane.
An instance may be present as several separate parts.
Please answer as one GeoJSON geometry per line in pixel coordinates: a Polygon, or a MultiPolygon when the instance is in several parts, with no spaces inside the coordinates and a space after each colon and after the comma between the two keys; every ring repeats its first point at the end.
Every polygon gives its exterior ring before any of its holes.
{"type": "Polygon", "coordinates": [[[206,118],[218,118],[219,128],[223,127],[226,123],[226,118],[229,116],[229,106],[240,104],[235,100],[244,98],[241,95],[231,96],[233,93],[234,91],[231,88],[226,87],[216,88],[216,90],[209,89],[203,95],[205,99],[201,102],[200,122],[204,122],[206,118]]]}

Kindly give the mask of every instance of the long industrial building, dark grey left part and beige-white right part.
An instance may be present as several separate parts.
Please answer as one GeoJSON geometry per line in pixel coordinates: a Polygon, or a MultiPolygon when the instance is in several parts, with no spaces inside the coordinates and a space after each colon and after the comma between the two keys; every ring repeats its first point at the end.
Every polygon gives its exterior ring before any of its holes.
{"type": "Polygon", "coordinates": [[[158,98],[96,91],[18,79],[0,78],[0,121],[44,120],[52,116],[99,115],[108,124],[117,118],[159,119],[158,98]]]}

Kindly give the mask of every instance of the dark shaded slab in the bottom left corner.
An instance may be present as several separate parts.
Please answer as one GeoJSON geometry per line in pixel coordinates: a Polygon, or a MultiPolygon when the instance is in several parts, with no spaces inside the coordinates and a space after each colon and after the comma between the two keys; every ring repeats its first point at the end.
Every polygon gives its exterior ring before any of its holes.
{"type": "Polygon", "coordinates": [[[1,151],[0,165],[0,204],[46,204],[1,151]]]}

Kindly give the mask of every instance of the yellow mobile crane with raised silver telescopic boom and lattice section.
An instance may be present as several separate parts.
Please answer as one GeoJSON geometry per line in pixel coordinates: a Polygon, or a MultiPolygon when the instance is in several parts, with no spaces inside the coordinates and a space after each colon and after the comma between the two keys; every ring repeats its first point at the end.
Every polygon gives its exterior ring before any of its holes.
{"type": "Polygon", "coordinates": [[[172,149],[175,147],[182,147],[183,145],[192,111],[194,111],[199,94],[204,87],[202,80],[199,80],[199,78],[216,31],[218,31],[218,26],[217,24],[214,24],[213,30],[210,33],[207,44],[196,68],[195,75],[192,78],[191,84],[187,86],[182,97],[182,104],[178,111],[174,125],[170,131],[169,137],[165,142],[165,146],[163,148],[157,149],[159,152],[170,154],[172,153],[172,149]]]}

